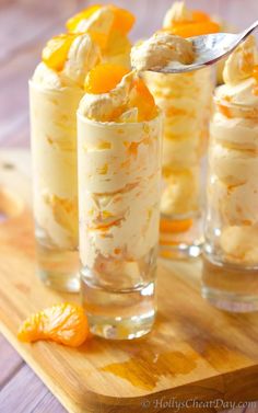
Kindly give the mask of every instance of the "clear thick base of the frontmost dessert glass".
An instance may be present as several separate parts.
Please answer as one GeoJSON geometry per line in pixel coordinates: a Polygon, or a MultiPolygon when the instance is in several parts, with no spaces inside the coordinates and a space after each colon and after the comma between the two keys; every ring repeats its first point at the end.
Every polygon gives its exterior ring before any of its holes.
{"type": "Polygon", "coordinates": [[[132,340],[148,334],[155,319],[154,283],[136,289],[110,290],[91,285],[81,271],[82,302],[93,334],[132,340]]]}

